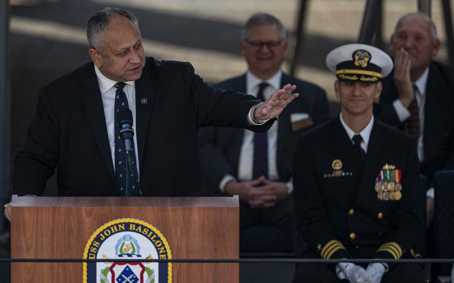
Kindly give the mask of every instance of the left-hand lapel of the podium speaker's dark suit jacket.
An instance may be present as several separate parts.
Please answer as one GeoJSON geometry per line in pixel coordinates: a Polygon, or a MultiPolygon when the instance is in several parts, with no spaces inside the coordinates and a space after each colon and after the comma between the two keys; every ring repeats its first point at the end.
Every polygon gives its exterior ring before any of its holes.
{"type": "Polygon", "coordinates": [[[115,180],[115,171],[112,164],[109,138],[107,136],[106,118],[104,117],[104,107],[93,65],[91,65],[91,70],[89,70],[85,78],[84,86],[87,88],[87,91],[83,94],[83,103],[87,111],[88,121],[90,122],[102,158],[109,169],[112,179],[115,180]]]}

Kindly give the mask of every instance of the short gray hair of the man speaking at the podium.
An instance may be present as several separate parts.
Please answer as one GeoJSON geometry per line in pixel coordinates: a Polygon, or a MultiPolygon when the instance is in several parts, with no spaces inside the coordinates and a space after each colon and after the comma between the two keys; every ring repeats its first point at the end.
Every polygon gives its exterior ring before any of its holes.
{"type": "Polygon", "coordinates": [[[102,50],[104,47],[104,31],[109,24],[109,20],[114,15],[120,15],[128,18],[139,30],[139,21],[136,16],[122,8],[105,7],[97,11],[88,20],[85,31],[87,33],[88,46],[93,49],[102,50]]]}

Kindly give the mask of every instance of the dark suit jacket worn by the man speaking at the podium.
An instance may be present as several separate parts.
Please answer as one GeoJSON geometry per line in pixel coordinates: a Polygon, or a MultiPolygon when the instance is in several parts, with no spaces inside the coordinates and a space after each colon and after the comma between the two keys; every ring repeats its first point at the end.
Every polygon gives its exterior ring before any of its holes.
{"type": "MultiPolygon", "coordinates": [[[[252,96],[205,84],[189,63],[147,58],[136,81],[140,182],[145,196],[205,195],[197,133],[218,125],[247,126],[252,96]],[[146,104],[141,99],[146,98],[146,104]]],[[[93,63],[43,87],[25,144],[15,158],[15,194],[42,194],[57,170],[62,196],[112,196],[114,167],[93,63]]]]}

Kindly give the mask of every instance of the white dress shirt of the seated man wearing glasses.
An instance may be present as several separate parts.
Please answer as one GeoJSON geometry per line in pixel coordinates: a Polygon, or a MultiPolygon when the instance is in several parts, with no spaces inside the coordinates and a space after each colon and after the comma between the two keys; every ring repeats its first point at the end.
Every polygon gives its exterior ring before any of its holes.
{"type": "MultiPolygon", "coordinates": [[[[257,78],[250,71],[246,73],[246,93],[257,97],[258,88],[261,83],[268,83],[263,90],[264,99],[268,99],[273,92],[280,89],[280,83],[282,79],[282,71],[279,70],[274,76],[269,78],[266,81],[263,81],[257,78]]],[[[277,163],[276,163],[276,147],[277,147],[277,130],[278,130],[278,121],[275,121],[273,126],[268,130],[268,177],[270,180],[278,180],[279,175],[277,172],[277,163]]],[[[241,150],[239,153],[239,162],[238,162],[238,180],[248,181],[252,180],[252,170],[253,170],[253,159],[254,159],[254,133],[249,130],[244,130],[243,141],[241,145],[241,150]]],[[[227,174],[221,180],[219,188],[222,192],[225,191],[227,182],[231,180],[236,180],[232,175],[227,174]]]]}

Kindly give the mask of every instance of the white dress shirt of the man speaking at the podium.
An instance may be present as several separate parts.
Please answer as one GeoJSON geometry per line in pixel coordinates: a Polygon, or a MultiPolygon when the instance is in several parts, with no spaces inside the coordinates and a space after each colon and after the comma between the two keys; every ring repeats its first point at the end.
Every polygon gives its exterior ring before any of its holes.
{"type": "MultiPolygon", "coordinates": [[[[104,107],[104,117],[106,119],[106,127],[107,127],[107,136],[109,138],[109,145],[110,145],[110,153],[112,154],[112,164],[115,170],[115,92],[117,88],[115,87],[116,81],[112,81],[111,79],[105,77],[101,71],[99,71],[98,67],[95,65],[95,72],[96,77],[98,79],[99,84],[99,91],[101,92],[102,98],[102,105],[104,107]]],[[[136,131],[136,82],[129,81],[125,82],[126,85],[123,88],[123,91],[126,94],[126,98],[128,99],[129,109],[132,112],[132,117],[134,124],[132,125],[132,129],[134,133],[136,131]]],[[[139,164],[139,155],[137,150],[137,137],[134,135],[134,153],[136,155],[137,164],[139,164]]],[[[137,174],[140,175],[139,166],[137,166],[137,174]]]]}

